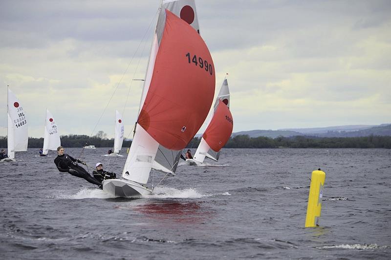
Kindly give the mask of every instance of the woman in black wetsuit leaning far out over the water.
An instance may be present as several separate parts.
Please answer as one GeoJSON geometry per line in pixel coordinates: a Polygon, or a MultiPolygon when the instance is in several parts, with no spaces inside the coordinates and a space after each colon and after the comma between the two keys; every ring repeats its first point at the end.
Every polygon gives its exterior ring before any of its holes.
{"type": "Polygon", "coordinates": [[[64,153],[64,148],[62,146],[59,146],[57,148],[57,157],[54,159],[54,163],[57,166],[57,169],[62,173],[70,173],[73,176],[77,176],[80,178],[86,179],[88,182],[98,185],[99,188],[102,189],[102,183],[100,181],[97,181],[94,177],[89,175],[87,171],[83,168],[77,165],[77,163],[81,163],[86,165],[85,162],[76,160],[72,156],[64,153]]]}

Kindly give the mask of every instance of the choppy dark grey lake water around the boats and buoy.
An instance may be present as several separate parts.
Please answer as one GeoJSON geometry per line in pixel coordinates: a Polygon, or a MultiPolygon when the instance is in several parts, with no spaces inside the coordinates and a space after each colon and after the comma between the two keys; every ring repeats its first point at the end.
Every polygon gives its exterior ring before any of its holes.
{"type": "MultiPolygon", "coordinates": [[[[126,157],[101,156],[106,151],[85,150],[83,159],[120,173],[126,157]]],[[[81,149],[65,152],[78,157],[81,149]]],[[[36,154],[0,163],[1,259],[391,254],[391,150],[223,149],[218,164],[229,166],[179,166],[177,176],[140,199],[112,198],[58,173],[54,152],[36,154]],[[318,168],[326,172],[320,227],[304,228],[310,172],[318,168]]]]}

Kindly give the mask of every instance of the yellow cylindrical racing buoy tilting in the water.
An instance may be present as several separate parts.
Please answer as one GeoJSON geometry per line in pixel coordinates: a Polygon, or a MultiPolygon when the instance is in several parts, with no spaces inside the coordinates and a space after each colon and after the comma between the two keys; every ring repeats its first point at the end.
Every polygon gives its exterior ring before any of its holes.
{"type": "Polygon", "coordinates": [[[311,184],[309,187],[307,216],[305,217],[305,227],[319,226],[321,217],[323,187],[325,185],[326,173],[318,169],[311,174],[311,184]]]}

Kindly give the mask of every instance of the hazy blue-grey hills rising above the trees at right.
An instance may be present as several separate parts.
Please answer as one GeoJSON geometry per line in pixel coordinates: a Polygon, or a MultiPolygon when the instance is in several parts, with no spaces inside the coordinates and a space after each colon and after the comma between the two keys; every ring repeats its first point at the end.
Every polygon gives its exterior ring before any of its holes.
{"type": "MultiPolygon", "coordinates": [[[[360,137],[369,135],[391,136],[391,124],[382,124],[378,126],[356,125],[356,126],[336,126],[325,128],[297,128],[280,130],[250,130],[232,133],[236,135],[249,135],[250,137],[265,136],[276,138],[278,136],[291,137],[297,135],[319,136],[319,137],[360,137]]],[[[201,135],[199,135],[201,136],[201,135]]]]}

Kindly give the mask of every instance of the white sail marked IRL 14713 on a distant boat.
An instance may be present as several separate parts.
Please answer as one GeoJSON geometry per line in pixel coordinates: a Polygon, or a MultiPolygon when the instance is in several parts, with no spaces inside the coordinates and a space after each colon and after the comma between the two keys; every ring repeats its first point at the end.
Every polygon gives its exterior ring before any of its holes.
{"type": "Polygon", "coordinates": [[[57,151],[61,146],[60,131],[53,115],[46,109],[45,133],[43,137],[43,154],[47,155],[50,151],[57,151]]]}

